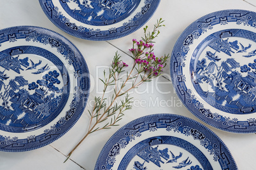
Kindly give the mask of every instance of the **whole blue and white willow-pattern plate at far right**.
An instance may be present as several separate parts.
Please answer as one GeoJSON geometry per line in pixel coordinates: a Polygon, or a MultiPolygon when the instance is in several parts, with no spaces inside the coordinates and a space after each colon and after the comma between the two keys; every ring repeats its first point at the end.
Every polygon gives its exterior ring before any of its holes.
{"type": "Polygon", "coordinates": [[[232,133],[256,132],[256,13],[210,13],[185,29],[171,56],[183,104],[201,121],[232,133]]]}

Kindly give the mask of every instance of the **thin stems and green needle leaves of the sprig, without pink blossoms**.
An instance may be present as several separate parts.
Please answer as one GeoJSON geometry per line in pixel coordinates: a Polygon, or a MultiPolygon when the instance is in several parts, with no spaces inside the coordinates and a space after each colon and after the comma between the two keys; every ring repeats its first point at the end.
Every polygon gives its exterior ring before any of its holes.
{"type": "MultiPolygon", "coordinates": [[[[109,70],[109,76],[105,77],[106,72],[104,72],[104,80],[101,80],[104,83],[103,95],[101,96],[101,98],[95,98],[95,103],[94,103],[94,107],[92,108],[92,113],[89,112],[90,113],[90,123],[89,123],[89,128],[87,130],[87,133],[85,134],[85,136],[83,136],[82,140],[80,140],[78,142],[78,144],[73,148],[73,150],[71,150],[71,152],[69,152],[66,160],[69,159],[71,154],[73,154],[73,152],[76,150],[76,148],[78,148],[78,146],[83,142],[83,140],[85,140],[85,138],[87,138],[87,136],[89,136],[90,133],[99,131],[101,129],[109,129],[112,126],[117,126],[117,122],[120,121],[122,119],[122,116],[124,115],[123,112],[125,110],[131,109],[131,107],[132,107],[131,106],[132,98],[129,96],[128,92],[131,89],[138,88],[138,86],[143,84],[143,82],[150,81],[154,77],[159,76],[159,73],[162,72],[162,70],[160,70],[162,67],[160,67],[160,66],[159,66],[159,68],[157,67],[157,65],[159,64],[159,61],[156,62],[156,60],[150,59],[150,60],[152,60],[152,61],[150,61],[150,67],[153,67],[153,69],[150,70],[150,73],[146,73],[145,65],[136,62],[136,60],[138,60],[139,58],[141,58],[141,60],[149,60],[147,58],[147,55],[145,55],[145,50],[148,49],[147,51],[149,53],[152,53],[153,45],[150,46],[150,48],[148,48],[148,46],[145,46],[144,44],[148,44],[148,43],[152,42],[153,39],[155,39],[155,37],[157,37],[159,35],[159,33],[160,33],[158,30],[159,27],[164,26],[164,25],[161,25],[162,22],[163,21],[161,18],[160,18],[160,20],[157,20],[157,24],[154,25],[153,31],[151,33],[149,32],[148,34],[146,33],[147,32],[146,29],[148,27],[147,26],[145,27],[145,29],[144,29],[145,37],[142,38],[144,42],[140,41],[139,43],[141,43],[141,44],[138,44],[138,50],[132,52],[134,63],[132,65],[131,71],[127,72],[126,79],[124,79],[124,81],[122,81],[122,85],[120,86],[119,89],[117,86],[117,82],[121,80],[120,73],[124,72],[124,70],[123,70],[124,66],[123,67],[118,66],[118,64],[120,62],[122,62],[122,60],[120,60],[120,56],[117,53],[115,53],[115,56],[113,59],[113,64],[111,65],[111,69],[109,70]],[[141,65],[139,65],[139,64],[141,64],[141,65]],[[132,75],[133,72],[135,72],[135,71],[136,71],[136,74],[132,75]],[[154,75],[155,73],[157,73],[157,75],[154,75]],[[139,79],[139,77],[140,77],[140,79],[139,79]],[[131,79],[132,79],[132,86],[130,86],[124,90],[125,86],[127,86],[127,82],[131,79]],[[110,104],[107,105],[106,101],[105,101],[106,99],[104,98],[104,96],[106,95],[106,89],[108,89],[108,87],[112,86],[112,85],[114,85],[115,93],[111,97],[110,104]],[[125,95],[125,94],[127,94],[127,96],[123,100],[119,99],[121,104],[115,104],[117,99],[120,96],[125,95]],[[104,111],[103,111],[103,108],[104,108],[104,111]],[[104,126],[98,126],[98,125],[101,125],[101,122],[104,122],[109,118],[111,118],[111,121],[109,121],[107,124],[105,124],[104,126]]],[[[134,43],[132,45],[132,49],[134,49],[135,42],[136,41],[134,41],[134,43]]],[[[169,58],[169,56],[167,56],[167,57],[164,56],[164,60],[163,60],[163,62],[161,62],[161,64],[165,63],[167,58],[169,58]]],[[[66,162],[66,160],[65,160],[65,162],[66,162]]]]}

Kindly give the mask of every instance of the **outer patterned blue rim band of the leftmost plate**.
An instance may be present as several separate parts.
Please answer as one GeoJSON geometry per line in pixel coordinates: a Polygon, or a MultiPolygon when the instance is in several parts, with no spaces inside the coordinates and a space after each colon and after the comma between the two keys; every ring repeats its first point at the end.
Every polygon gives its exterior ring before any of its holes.
{"type": "Polygon", "coordinates": [[[34,26],[18,26],[0,30],[0,46],[3,42],[15,42],[17,39],[25,41],[50,44],[51,48],[57,48],[60,56],[66,58],[68,65],[73,65],[74,75],[78,86],[74,89],[73,101],[66,110],[64,117],[55,122],[50,129],[45,129],[44,133],[27,136],[25,139],[18,137],[11,138],[0,134],[0,150],[6,152],[23,152],[43,147],[64,135],[74,126],[80,118],[86,106],[89,89],[90,77],[87,63],[76,46],[66,37],[57,32],[34,26]]]}

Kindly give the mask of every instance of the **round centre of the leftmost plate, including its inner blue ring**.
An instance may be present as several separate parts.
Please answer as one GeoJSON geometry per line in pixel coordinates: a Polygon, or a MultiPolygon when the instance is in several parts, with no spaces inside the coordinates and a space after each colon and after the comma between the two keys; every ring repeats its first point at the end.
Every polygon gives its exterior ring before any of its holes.
{"type": "Polygon", "coordinates": [[[53,121],[69,96],[65,72],[59,58],[42,48],[18,46],[1,51],[1,129],[23,133],[53,121]]]}

